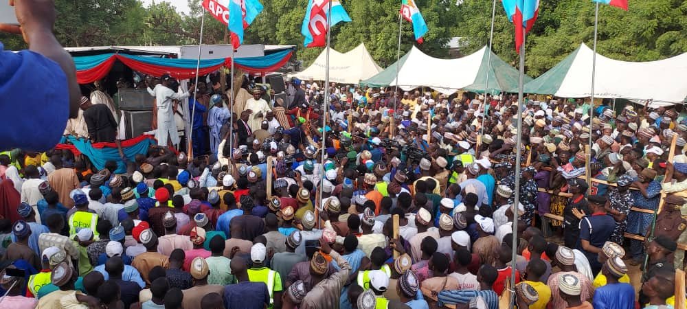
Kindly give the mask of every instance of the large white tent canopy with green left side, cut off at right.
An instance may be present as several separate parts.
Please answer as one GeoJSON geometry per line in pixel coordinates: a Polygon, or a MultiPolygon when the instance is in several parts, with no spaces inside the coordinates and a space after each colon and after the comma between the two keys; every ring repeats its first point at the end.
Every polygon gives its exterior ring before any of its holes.
{"type": "MultiPolygon", "coordinates": [[[[525,85],[525,93],[586,98],[592,93],[594,51],[584,43],[558,65],[525,85]]],[[[653,99],[675,104],[687,98],[687,53],[664,60],[627,62],[596,54],[595,98],[653,99]]]]}

